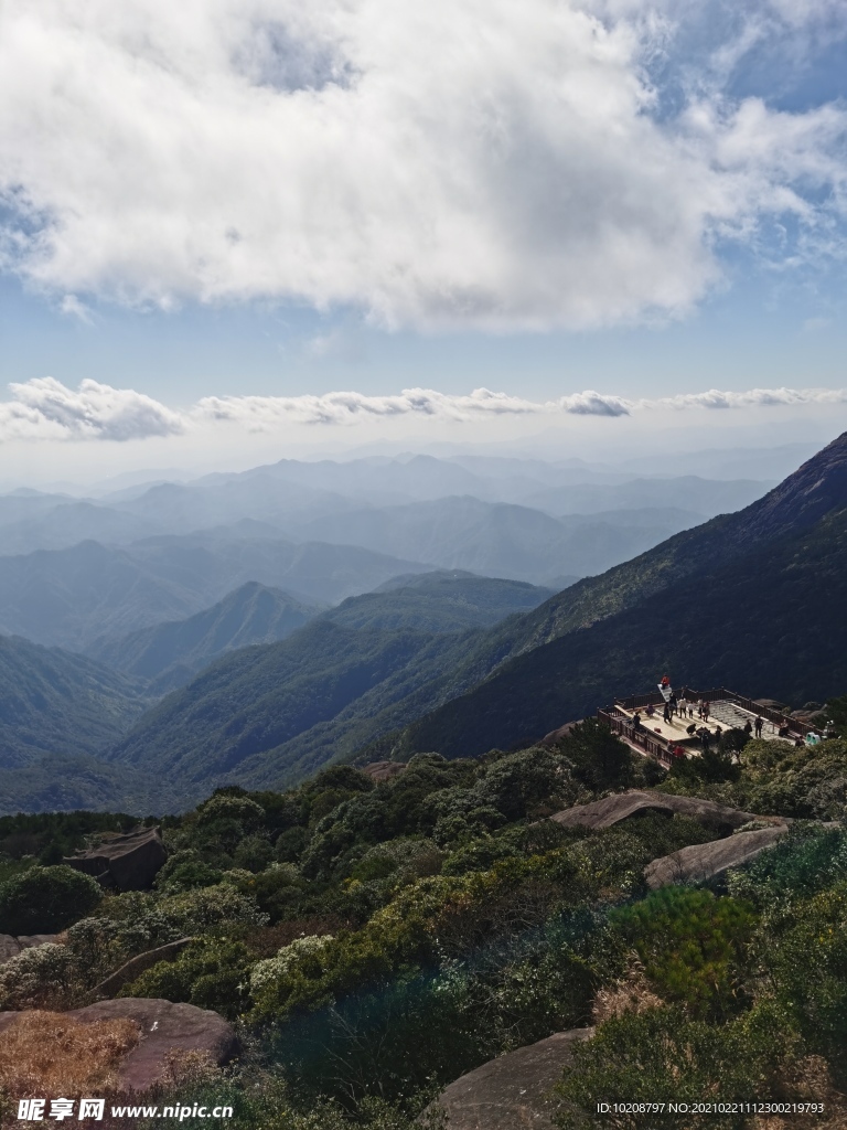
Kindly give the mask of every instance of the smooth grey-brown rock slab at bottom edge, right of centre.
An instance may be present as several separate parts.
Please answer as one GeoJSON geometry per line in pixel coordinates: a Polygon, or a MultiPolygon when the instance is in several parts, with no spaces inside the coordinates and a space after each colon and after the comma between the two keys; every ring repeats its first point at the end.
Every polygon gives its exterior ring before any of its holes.
{"type": "Polygon", "coordinates": [[[551,1094],[578,1040],[593,1028],[571,1028],[483,1063],[452,1083],[433,1103],[447,1112],[449,1130],[553,1130],[560,1107],[551,1094]]]}

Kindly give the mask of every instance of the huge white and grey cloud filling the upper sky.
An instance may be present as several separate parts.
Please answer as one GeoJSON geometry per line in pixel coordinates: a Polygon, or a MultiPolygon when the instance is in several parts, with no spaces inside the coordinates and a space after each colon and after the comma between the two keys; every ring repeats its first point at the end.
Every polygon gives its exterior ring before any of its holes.
{"type": "Polygon", "coordinates": [[[844,197],[840,107],[709,92],[656,112],[645,59],[696,7],[6,0],[0,255],[60,294],[165,307],[681,314],[719,277],[717,236],[844,197]]]}

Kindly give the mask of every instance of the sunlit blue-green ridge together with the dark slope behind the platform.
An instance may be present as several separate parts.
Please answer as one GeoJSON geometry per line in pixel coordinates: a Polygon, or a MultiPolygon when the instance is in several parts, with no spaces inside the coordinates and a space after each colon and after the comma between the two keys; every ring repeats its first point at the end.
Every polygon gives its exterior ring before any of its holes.
{"type": "Polygon", "coordinates": [[[847,435],[760,501],[488,631],[321,618],[237,652],[149,713],[115,758],[202,791],[321,764],[539,738],[614,694],[679,681],[822,698],[847,683],[847,435]]]}

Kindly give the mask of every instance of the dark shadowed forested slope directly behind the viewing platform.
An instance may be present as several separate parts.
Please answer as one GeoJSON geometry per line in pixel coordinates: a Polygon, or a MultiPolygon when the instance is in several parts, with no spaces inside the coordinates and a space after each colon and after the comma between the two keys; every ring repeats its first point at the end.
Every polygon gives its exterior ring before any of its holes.
{"type": "Polygon", "coordinates": [[[845,608],[847,507],[518,655],[387,746],[453,757],[509,748],[665,671],[704,690],[822,699],[847,684],[845,608]]]}

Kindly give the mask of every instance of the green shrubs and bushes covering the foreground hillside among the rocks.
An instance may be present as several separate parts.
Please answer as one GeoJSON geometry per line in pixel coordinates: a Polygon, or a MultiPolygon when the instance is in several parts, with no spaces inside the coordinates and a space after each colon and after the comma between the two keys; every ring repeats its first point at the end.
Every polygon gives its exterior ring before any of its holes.
{"type": "MultiPolygon", "coordinates": [[[[67,932],[0,966],[0,1008],[73,1007],[129,957],[191,936],[120,993],[241,1022],[241,1066],[195,1078],[192,1102],[232,1104],[246,1130],[412,1130],[465,1071],[587,1025],[560,1083],[564,1130],[595,1125],[601,1097],[658,1095],[822,1102],[836,1127],[846,757],[844,739],[749,741],[740,762],[718,750],[665,776],[588,722],[552,749],[420,754],[379,782],[334,766],[282,793],[219,790],[168,818],[149,893],[104,894],[55,866],[125,816],[7,817],[0,929],[14,915],[67,932]],[[649,892],[647,863],[726,829],[657,814],[604,831],[544,819],[629,786],[802,819],[744,869],[649,892]]],[[[742,1110],[704,1124],[761,1123],[742,1110]]],[[[662,1125],[690,1130],[690,1116],[662,1125]]]]}

